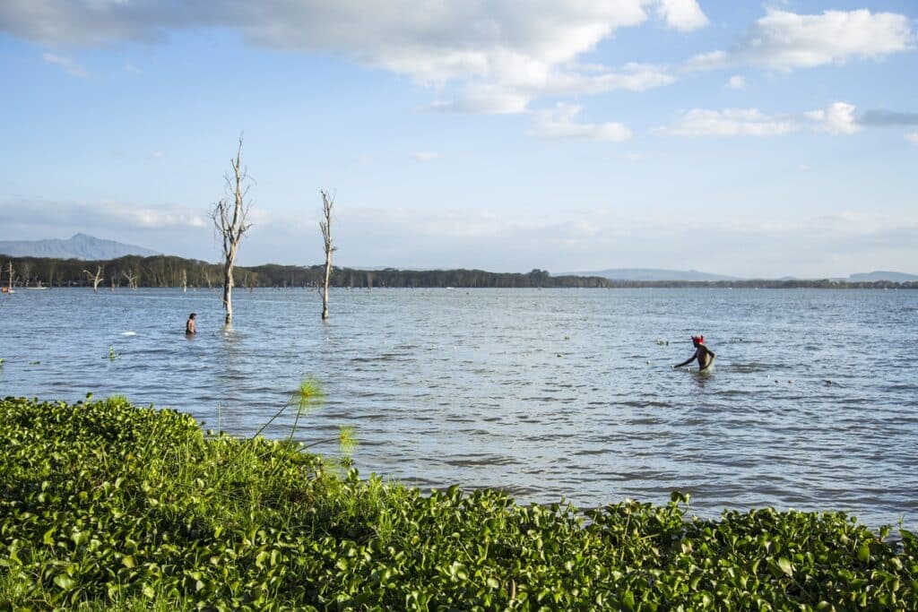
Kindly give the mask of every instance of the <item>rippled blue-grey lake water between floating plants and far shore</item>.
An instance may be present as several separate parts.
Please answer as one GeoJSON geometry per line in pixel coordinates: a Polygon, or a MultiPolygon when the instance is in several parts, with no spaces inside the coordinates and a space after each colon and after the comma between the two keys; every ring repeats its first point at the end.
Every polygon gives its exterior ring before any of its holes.
{"type": "Polygon", "coordinates": [[[364,475],[918,523],[918,291],[340,289],[326,324],[312,290],[237,288],[234,306],[226,333],[217,291],[3,295],[0,395],[127,395],[215,429],[220,406],[251,435],[311,377],[328,398],[297,438],[353,426],[364,475]],[[712,373],[669,367],[693,332],[712,373]]]}

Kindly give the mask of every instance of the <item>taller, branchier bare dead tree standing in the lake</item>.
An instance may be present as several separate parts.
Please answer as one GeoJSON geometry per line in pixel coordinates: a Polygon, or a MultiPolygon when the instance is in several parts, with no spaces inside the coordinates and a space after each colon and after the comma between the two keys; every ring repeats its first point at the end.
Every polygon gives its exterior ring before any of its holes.
{"type": "Polygon", "coordinates": [[[232,268],[236,264],[236,253],[239,243],[245,232],[252,227],[245,222],[249,214],[250,204],[245,201],[249,193],[249,174],[242,169],[242,137],[239,137],[239,149],[236,150],[236,159],[229,160],[232,166],[232,175],[226,174],[227,196],[223,197],[213,210],[210,217],[214,220],[214,227],[223,239],[223,309],[226,310],[226,324],[232,324],[232,287],[234,284],[232,268]]]}

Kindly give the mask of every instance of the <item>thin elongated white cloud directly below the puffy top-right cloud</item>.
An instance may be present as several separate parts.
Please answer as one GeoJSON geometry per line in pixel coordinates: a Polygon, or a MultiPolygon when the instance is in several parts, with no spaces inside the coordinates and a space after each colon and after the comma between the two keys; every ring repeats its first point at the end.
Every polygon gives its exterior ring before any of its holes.
{"type": "Polygon", "coordinates": [[[830,134],[853,134],[860,129],[855,106],[835,102],[822,110],[797,115],[766,115],[757,108],[710,110],[693,108],[669,126],[656,131],[669,136],[780,136],[810,129],[830,134]]]}

